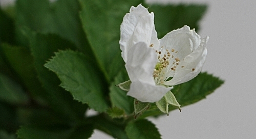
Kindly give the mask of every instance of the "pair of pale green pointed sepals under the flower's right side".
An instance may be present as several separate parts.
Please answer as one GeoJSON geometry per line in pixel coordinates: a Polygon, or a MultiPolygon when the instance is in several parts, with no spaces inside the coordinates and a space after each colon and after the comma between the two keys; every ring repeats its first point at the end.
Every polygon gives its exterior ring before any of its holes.
{"type": "Polygon", "coordinates": [[[168,114],[168,105],[171,104],[175,107],[178,107],[179,110],[181,111],[180,104],[176,100],[174,94],[170,91],[168,91],[162,99],[156,102],[157,107],[161,110],[161,112],[168,114]]]}

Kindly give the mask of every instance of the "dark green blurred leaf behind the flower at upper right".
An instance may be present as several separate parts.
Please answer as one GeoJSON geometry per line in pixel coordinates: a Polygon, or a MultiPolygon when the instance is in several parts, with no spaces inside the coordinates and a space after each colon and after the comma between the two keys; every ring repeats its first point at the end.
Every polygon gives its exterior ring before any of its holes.
{"type": "Polygon", "coordinates": [[[158,38],[184,25],[199,30],[199,21],[207,10],[206,5],[150,5],[148,11],[155,14],[158,38]]]}

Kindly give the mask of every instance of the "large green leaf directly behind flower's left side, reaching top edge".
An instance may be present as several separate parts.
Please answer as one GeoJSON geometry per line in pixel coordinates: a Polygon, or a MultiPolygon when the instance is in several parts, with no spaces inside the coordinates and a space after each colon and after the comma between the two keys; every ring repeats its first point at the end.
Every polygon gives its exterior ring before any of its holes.
{"type": "Polygon", "coordinates": [[[112,81],[124,68],[118,43],[123,16],[129,12],[131,6],[138,5],[142,1],[79,0],[79,2],[84,32],[87,34],[101,70],[106,78],[112,81]]]}

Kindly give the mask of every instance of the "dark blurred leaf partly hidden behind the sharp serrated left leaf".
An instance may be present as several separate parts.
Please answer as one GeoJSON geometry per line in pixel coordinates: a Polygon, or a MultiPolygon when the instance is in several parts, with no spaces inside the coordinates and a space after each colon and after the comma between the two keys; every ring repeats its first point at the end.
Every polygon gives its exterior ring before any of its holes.
{"type": "Polygon", "coordinates": [[[58,35],[39,34],[26,28],[24,28],[23,32],[29,39],[35,69],[42,87],[47,91],[49,104],[63,116],[68,116],[73,120],[81,117],[77,113],[74,113],[76,109],[74,109],[73,105],[84,108],[86,108],[86,105],[81,105],[77,101],[74,101],[69,92],[59,87],[60,81],[57,76],[44,67],[46,61],[54,56],[55,51],[67,48],[72,49],[74,48],[74,44],[60,38],[58,35]]]}

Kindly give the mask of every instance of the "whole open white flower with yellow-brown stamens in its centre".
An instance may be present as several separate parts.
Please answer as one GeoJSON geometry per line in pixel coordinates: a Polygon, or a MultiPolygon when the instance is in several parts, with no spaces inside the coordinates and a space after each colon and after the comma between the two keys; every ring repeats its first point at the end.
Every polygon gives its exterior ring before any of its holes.
{"type": "Polygon", "coordinates": [[[157,39],[154,13],[131,7],[121,24],[122,58],[132,82],[127,95],[156,102],[170,89],[196,77],[205,62],[208,36],[201,39],[189,26],[157,39]]]}

